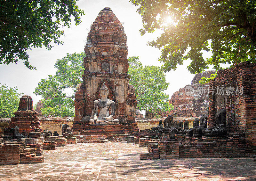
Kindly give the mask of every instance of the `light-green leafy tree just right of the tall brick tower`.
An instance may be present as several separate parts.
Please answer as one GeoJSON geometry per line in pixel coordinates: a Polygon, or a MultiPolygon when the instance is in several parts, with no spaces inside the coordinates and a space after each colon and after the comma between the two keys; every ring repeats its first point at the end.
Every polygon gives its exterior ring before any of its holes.
{"type": "Polygon", "coordinates": [[[130,83],[135,88],[138,101],[137,108],[154,112],[157,110],[171,111],[173,106],[169,104],[169,95],[163,93],[168,88],[164,72],[160,67],[143,67],[138,56],[128,58],[130,83]]]}

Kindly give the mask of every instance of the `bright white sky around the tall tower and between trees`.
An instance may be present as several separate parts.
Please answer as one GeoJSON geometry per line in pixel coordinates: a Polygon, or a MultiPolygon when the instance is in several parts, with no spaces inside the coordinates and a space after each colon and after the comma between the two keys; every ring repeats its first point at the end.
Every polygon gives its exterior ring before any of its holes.
{"type": "MultiPolygon", "coordinates": [[[[41,96],[36,96],[33,92],[37,83],[48,75],[55,75],[54,64],[57,59],[62,59],[67,53],[81,53],[84,51],[84,41],[91,24],[104,7],[110,7],[120,22],[124,22],[124,32],[127,36],[128,57],[139,56],[143,65],[160,66],[158,58],[160,50],[150,47],[147,42],[155,39],[159,34],[146,33],[141,36],[139,29],[142,27],[141,16],[136,12],[138,6],[132,5],[129,0],[80,0],[78,7],[84,10],[85,15],[81,17],[80,25],[75,25],[72,21],[71,28],[64,28],[64,35],[60,38],[63,45],[53,44],[51,51],[46,48],[33,48],[28,51],[29,62],[36,70],[25,68],[23,62],[17,64],[0,65],[0,83],[8,87],[17,87],[19,92],[30,95],[33,103],[37,103],[41,96]]],[[[211,56],[206,53],[205,57],[211,56]]],[[[190,84],[194,74],[190,74],[187,66],[190,62],[184,62],[177,67],[176,71],[166,73],[166,80],[170,83],[165,93],[170,95],[178,91],[181,87],[190,84]]]]}

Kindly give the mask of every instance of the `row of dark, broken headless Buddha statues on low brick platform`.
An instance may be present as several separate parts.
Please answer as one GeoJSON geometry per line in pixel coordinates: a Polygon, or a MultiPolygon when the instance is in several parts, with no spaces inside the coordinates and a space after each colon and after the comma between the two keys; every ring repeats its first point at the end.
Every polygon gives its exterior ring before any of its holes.
{"type": "Polygon", "coordinates": [[[170,136],[170,139],[175,139],[175,134],[185,134],[188,136],[223,136],[227,134],[226,127],[226,109],[219,109],[215,114],[215,122],[216,126],[207,128],[208,116],[206,114],[202,115],[200,119],[196,118],[193,121],[193,127],[189,129],[188,120],[184,122],[183,129],[183,121],[175,120],[173,121],[172,115],[169,115],[164,119],[164,123],[162,120],[159,121],[159,125],[157,127],[152,127],[151,130],[156,133],[165,133],[170,136]]]}

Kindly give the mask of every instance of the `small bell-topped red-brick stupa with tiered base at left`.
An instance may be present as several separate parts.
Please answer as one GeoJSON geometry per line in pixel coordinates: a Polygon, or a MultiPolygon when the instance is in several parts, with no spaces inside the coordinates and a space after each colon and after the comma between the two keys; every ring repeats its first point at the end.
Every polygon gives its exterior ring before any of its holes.
{"type": "Polygon", "coordinates": [[[18,111],[13,113],[15,116],[11,118],[9,127],[19,127],[20,133],[35,132],[35,128],[41,129],[41,122],[39,121],[38,113],[33,109],[33,100],[30,96],[22,96],[18,111]]]}

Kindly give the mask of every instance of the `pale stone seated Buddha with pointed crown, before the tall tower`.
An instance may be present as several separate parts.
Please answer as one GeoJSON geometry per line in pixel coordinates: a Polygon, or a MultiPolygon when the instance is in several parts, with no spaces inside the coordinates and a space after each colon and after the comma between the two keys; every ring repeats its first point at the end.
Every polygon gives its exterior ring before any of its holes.
{"type": "Polygon", "coordinates": [[[92,125],[117,125],[119,124],[118,119],[113,117],[116,114],[116,103],[107,98],[108,96],[108,87],[105,85],[105,82],[100,88],[101,98],[94,101],[94,118],[90,119],[90,124],[92,125]],[[111,114],[109,115],[109,108],[111,107],[111,114]],[[100,109],[100,114],[98,116],[98,108],[100,109]]]}

